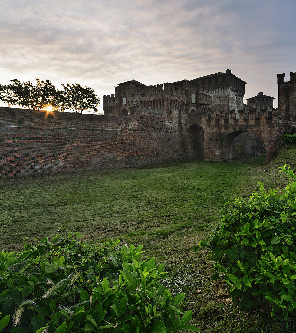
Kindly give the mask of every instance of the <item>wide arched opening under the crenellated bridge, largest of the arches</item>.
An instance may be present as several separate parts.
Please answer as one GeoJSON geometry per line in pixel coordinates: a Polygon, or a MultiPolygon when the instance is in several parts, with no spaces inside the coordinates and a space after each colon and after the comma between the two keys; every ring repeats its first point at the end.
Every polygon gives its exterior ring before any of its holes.
{"type": "Polygon", "coordinates": [[[251,156],[262,156],[266,160],[265,146],[256,134],[246,131],[236,131],[227,134],[220,144],[220,161],[238,160],[251,156]]]}

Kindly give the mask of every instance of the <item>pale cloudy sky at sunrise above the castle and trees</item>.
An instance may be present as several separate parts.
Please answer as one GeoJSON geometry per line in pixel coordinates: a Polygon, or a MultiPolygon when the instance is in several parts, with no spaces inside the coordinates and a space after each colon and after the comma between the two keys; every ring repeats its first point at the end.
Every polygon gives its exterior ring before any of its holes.
{"type": "Polygon", "coordinates": [[[296,0],[0,0],[0,84],[36,77],[92,87],[216,72],[275,97],[296,71],[296,0]]]}

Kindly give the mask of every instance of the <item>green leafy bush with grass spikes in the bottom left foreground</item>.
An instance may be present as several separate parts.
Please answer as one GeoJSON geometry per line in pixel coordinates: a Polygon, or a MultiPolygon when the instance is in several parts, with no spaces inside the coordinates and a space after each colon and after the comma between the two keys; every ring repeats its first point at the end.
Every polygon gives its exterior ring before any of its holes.
{"type": "Polygon", "coordinates": [[[159,280],[164,264],[140,260],[142,245],[94,245],[65,231],[0,253],[0,332],[153,332],[197,329],[159,280]],[[47,329],[46,329],[47,328],[47,329]]]}

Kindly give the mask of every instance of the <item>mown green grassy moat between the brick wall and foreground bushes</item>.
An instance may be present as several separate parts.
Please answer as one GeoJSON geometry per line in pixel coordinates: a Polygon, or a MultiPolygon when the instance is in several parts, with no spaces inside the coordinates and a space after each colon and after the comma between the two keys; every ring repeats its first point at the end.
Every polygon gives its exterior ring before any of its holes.
{"type": "Polygon", "coordinates": [[[226,201],[249,196],[256,180],[266,187],[285,184],[278,166],[295,167],[296,148],[284,146],[277,154],[268,165],[262,155],[1,179],[1,250],[19,250],[25,236],[51,237],[61,225],[94,242],[112,237],[144,244],[146,255],[172,274],[172,292],[186,293],[184,309],[193,310],[200,332],[285,332],[277,319],[235,307],[223,280],[209,279],[209,252],[192,251],[226,201]]]}

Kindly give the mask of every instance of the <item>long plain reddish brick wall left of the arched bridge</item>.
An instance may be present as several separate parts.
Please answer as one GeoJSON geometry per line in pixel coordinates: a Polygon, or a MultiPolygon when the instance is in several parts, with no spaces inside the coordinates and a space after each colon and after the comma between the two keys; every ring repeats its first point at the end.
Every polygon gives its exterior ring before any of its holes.
{"type": "Polygon", "coordinates": [[[0,108],[0,176],[141,166],[189,158],[182,124],[0,108]]]}

